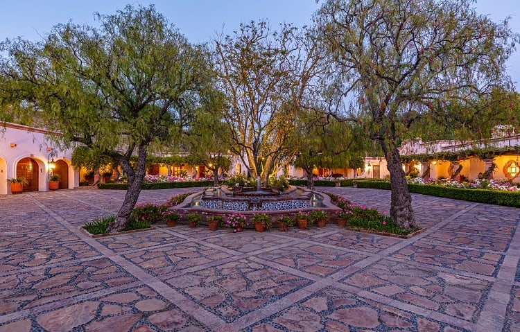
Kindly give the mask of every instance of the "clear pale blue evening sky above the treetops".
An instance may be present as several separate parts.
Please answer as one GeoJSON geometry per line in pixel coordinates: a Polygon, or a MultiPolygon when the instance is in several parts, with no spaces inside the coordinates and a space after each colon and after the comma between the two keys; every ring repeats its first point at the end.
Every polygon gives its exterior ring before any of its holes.
{"type": "MultiPolygon", "coordinates": [[[[472,7],[493,21],[510,16],[510,28],[520,33],[519,0],[478,0],[472,7]]],[[[94,12],[111,15],[127,4],[155,4],[170,23],[192,43],[209,42],[216,33],[231,34],[241,23],[269,19],[273,28],[280,23],[311,24],[320,6],[315,0],[8,0],[0,7],[0,40],[22,37],[41,40],[56,24],[73,21],[96,26],[94,12]]],[[[520,47],[510,57],[507,71],[520,91],[520,47]]]]}

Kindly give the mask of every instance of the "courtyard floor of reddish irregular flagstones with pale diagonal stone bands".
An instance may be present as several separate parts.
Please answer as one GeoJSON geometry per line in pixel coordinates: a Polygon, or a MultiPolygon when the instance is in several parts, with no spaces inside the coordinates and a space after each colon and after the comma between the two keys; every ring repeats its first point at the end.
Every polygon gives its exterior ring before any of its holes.
{"type": "MultiPolygon", "coordinates": [[[[389,191],[324,190],[390,208],[389,191]]],[[[413,194],[427,230],[408,240],[333,224],[80,231],[124,194],[0,196],[0,332],[520,331],[520,209],[413,194]]]]}

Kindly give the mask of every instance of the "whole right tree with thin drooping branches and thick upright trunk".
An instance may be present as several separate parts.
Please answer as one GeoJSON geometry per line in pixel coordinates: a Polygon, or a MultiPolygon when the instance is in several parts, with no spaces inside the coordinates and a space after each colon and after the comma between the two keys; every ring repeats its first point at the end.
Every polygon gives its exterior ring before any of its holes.
{"type": "Polygon", "coordinates": [[[381,146],[390,216],[401,228],[416,227],[401,139],[421,119],[446,123],[462,109],[475,112],[494,89],[512,89],[504,66],[518,36],[507,20],[478,15],[472,2],[329,0],[315,16],[338,66],[331,95],[343,98],[334,104],[343,108],[333,114],[361,123],[381,146]]]}

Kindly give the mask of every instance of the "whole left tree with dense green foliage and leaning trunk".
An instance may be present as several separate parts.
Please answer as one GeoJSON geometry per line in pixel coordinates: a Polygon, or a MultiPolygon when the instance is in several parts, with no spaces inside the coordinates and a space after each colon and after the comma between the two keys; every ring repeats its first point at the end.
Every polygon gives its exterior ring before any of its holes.
{"type": "Polygon", "coordinates": [[[79,143],[121,165],[129,186],[109,225],[119,231],[137,202],[148,148],[171,143],[193,119],[211,84],[210,61],[153,6],[96,18],[99,28],[60,24],[42,42],[3,42],[0,105],[38,114],[61,146],[79,143]]]}

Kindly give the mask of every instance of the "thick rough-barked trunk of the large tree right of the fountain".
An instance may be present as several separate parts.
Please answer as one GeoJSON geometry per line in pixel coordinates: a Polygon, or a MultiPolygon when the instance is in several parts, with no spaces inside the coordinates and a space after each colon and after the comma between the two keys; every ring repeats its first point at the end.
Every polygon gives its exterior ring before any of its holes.
{"type": "Polygon", "coordinates": [[[387,168],[390,171],[390,189],[392,190],[390,217],[400,228],[413,229],[417,227],[417,223],[413,215],[412,196],[408,191],[406,174],[403,171],[399,151],[394,147],[389,152],[384,141],[381,141],[381,147],[385,152],[387,168]]]}

